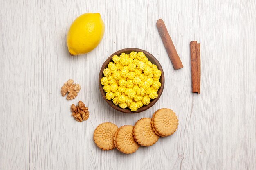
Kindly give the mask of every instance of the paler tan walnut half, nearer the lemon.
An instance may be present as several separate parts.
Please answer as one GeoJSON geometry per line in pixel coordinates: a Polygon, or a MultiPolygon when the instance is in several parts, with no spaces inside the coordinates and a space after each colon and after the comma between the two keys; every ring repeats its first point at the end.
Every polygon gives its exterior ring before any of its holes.
{"type": "Polygon", "coordinates": [[[77,93],[81,89],[79,84],[73,84],[74,80],[69,79],[62,87],[61,87],[61,95],[65,96],[67,94],[67,100],[72,100],[76,98],[77,93]]]}

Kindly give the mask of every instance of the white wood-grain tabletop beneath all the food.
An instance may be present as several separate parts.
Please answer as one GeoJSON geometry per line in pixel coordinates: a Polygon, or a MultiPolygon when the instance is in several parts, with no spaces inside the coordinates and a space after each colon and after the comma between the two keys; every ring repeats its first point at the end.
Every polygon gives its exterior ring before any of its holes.
{"type": "Polygon", "coordinates": [[[1,0],[0,169],[256,169],[255,0],[1,0]],[[101,44],[71,57],[72,21],[99,12],[101,44]],[[184,68],[174,70],[156,28],[162,18],[184,68]],[[189,42],[201,43],[201,94],[191,92],[189,42]],[[104,102],[98,75],[122,48],[147,50],[161,63],[164,92],[149,110],[115,111],[104,102]],[[60,94],[69,78],[81,85],[75,100],[60,94]],[[71,117],[79,100],[90,110],[71,117]],[[162,107],[179,118],[177,132],[132,155],[103,151],[93,141],[102,122],[135,124],[162,107]]]}

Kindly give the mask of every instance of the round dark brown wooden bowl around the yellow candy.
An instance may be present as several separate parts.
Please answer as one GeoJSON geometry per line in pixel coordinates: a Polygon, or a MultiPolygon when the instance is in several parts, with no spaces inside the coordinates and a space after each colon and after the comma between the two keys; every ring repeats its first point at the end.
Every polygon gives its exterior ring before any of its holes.
{"type": "Polygon", "coordinates": [[[145,50],[141,50],[139,48],[125,48],[125,49],[119,50],[119,51],[115,52],[114,54],[110,55],[110,57],[108,57],[108,59],[106,59],[106,61],[103,63],[103,65],[101,67],[101,71],[99,72],[99,90],[101,92],[101,95],[102,95],[103,99],[108,103],[108,105],[110,105],[112,108],[116,109],[117,111],[121,111],[123,113],[139,113],[139,112],[145,111],[145,110],[149,109],[150,107],[152,107],[153,105],[155,105],[157,100],[160,98],[160,96],[161,96],[161,94],[164,90],[164,71],[163,71],[163,68],[160,65],[160,63],[157,61],[157,59],[152,54],[150,54],[149,52],[147,52],[145,50]],[[122,109],[121,107],[119,107],[119,105],[115,105],[112,102],[112,100],[107,100],[106,97],[105,97],[106,93],[103,90],[103,85],[101,85],[101,78],[104,76],[103,70],[104,70],[104,68],[108,67],[109,62],[111,62],[111,61],[113,62],[112,57],[114,55],[119,56],[123,52],[126,53],[126,54],[130,54],[130,52],[132,52],[132,51],[143,52],[146,55],[146,57],[148,57],[148,60],[151,61],[151,63],[157,65],[157,68],[159,70],[161,70],[161,72],[162,72],[162,75],[161,75],[160,80],[159,80],[160,83],[161,83],[161,87],[157,91],[158,97],[156,99],[151,99],[151,101],[148,105],[143,105],[137,111],[131,111],[128,107],[126,109],[122,109]]]}

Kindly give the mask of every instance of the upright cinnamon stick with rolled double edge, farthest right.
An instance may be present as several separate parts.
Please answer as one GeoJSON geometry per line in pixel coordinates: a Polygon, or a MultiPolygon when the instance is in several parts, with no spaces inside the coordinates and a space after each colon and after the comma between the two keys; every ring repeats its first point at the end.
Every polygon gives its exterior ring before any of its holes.
{"type": "Polygon", "coordinates": [[[200,93],[200,85],[201,85],[200,44],[198,44],[197,41],[190,42],[190,55],[191,55],[192,92],[200,93]]]}

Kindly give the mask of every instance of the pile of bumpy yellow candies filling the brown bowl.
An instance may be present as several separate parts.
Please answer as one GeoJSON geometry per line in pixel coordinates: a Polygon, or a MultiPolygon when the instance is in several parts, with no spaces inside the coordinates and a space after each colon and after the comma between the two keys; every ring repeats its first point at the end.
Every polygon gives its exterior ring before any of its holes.
{"type": "Polygon", "coordinates": [[[158,97],[162,73],[143,52],[122,53],[113,56],[112,60],[114,63],[108,63],[101,78],[107,100],[112,99],[115,105],[123,109],[128,107],[136,111],[148,105],[150,99],[158,97]]]}

